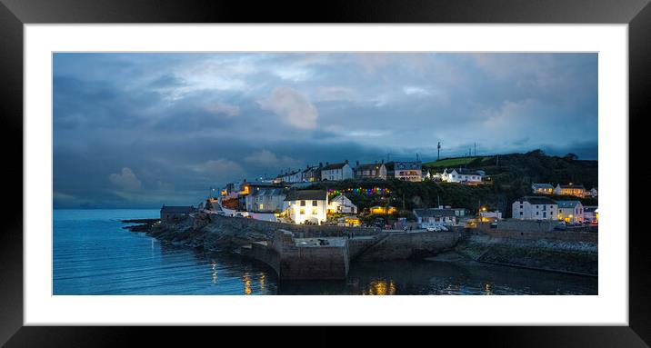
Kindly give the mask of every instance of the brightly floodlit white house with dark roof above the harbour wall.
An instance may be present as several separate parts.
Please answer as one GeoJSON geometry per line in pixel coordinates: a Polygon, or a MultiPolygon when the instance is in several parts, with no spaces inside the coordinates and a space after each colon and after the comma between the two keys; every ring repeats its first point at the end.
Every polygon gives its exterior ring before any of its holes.
{"type": "Polygon", "coordinates": [[[323,224],[327,204],[325,190],[294,190],[285,197],[283,212],[295,224],[323,224]]]}

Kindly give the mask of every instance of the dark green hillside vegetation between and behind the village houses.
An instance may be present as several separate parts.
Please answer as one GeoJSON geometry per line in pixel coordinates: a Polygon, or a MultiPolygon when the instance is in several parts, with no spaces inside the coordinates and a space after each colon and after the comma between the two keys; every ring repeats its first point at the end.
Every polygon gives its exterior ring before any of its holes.
{"type": "MultiPolygon", "coordinates": [[[[443,161],[438,161],[438,163],[441,164],[443,161]]],[[[450,163],[453,162],[447,162],[447,164],[450,163]]],[[[458,165],[457,163],[455,166],[458,165]]],[[[466,208],[474,212],[479,206],[488,206],[499,209],[505,216],[510,217],[511,204],[523,195],[531,195],[532,183],[584,184],[586,190],[598,185],[597,161],[547,156],[541,151],[476,157],[462,166],[486,171],[489,184],[470,186],[431,181],[409,183],[397,180],[346,180],[315,183],[312,187],[333,190],[357,188],[359,193],[346,193],[346,196],[357,204],[360,210],[373,205],[386,204],[394,205],[401,210],[411,210],[433,207],[440,203],[466,208]],[[374,187],[387,188],[390,190],[390,194],[385,195],[384,199],[382,196],[365,194],[365,190],[374,187]]],[[[424,164],[424,168],[437,169],[439,167],[424,164]]],[[[576,199],[574,197],[555,198],[576,199]]],[[[580,201],[585,205],[598,204],[597,200],[592,198],[580,199],[580,201]]]]}

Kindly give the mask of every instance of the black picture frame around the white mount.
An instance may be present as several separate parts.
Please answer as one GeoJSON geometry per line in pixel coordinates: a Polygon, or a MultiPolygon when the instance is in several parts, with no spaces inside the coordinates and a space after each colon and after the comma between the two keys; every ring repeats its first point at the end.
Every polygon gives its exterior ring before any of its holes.
{"type": "MultiPolygon", "coordinates": [[[[448,0],[378,2],[248,2],[124,0],[0,0],[0,115],[5,149],[4,231],[0,234],[0,343],[6,346],[131,345],[125,335],[166,341],[148,328],[23,326],[23,40],[25,24],[55,23],[532,23],[627,24],[629,59],[629,168],[631,184],[646,184],[644,119],[651,110],[651,5],[649,0],[448,0]],[[8,157],[8,158],[7,158],[8,157]],[[634,159],[638,159],[634,161],[634,159]],[[19,185],[17,183],[23,183],[19,185]],[[7,208],[13,209],[7,209],[7,208]]],[[[622,168],[625,169],[625,168],[622,168]]],[[[456,344],[532,347],[648,347],[651,343],[651,256],[642,225],[644,204],[629,193],[629,326],[427,328],[427,335],[454,337],[456,344]]],[[[29,207],[25,207],[29,209],[29,207]]],[[[626,226],[621,233],[626,233],[626,226]]],[[[258,330],[255,330],[258,332],[258,330]]],[[[253,339],[256,334],[235,333],[253,339]]],[[[301,331],[315,343],[338,343],[336,328],[301,331]]],[[[215,331],[195,331],[212,336],[215,331]]],[[[194,334],[194,333],[193,333],[194,334]]],[[[222,333],[225,334],[225,333],[222,333]]],[[[259,335],[273,341],[269,333],[259,335]]],[[[346,336],[349,336],[346,334],[346,336]]],[[[356,334],[359,337],[359,334],[356,334]]],[[[396,337],[362,336],[390,343],[396,337]]],[[[185,336],[187,338],[187,336],[185,336]]],[[[189,338],[187,338],[189,340],[189,338]]],[[[305,338],[302,338],[305,340],[305,338]]],[[[346,339],[349,340],[349,339],[346,339]]],[[[132,344],[134,342],[131,342],[132,344]]],[[[153,342],[150,342],[153,343],[153,342]]],[[[186,343],[189,343],[187,341],[186,343]]],[[[285,343],[285,342],[283,342],[285,343]]],[[[347,343],[350,343],[348,341],[347,343]]],[[[310,343],[313,345],[313,343],[310,343]]],[[[330,344],[329,344],[330,345],[330,344]]]]}

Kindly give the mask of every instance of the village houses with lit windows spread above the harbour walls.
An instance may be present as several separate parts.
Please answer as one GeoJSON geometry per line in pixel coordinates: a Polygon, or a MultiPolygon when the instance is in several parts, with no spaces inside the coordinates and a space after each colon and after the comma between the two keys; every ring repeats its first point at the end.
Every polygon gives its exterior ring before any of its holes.
{"type": "Polygon", "coordinates": [[[437,202],[406,210],[405,200],[396,197],[385,183],[391,181],[444,185],[492,185],[484,170],[462,166],[428,170],[421,161],[384,160],[363,164],[339,163],[288,168],[273,178],[244,179],[211,189],[210,196],[197,207],[163,206],[161,218],[174,219],[200,210],[225,217],[251,218],[289,224],[331,224],[342,227],[375,226],[396,231],[446,231],[450,227],[477,228],[518,222],[548,230],[596,232],[598,206],[582,204],[596,200],[596,187],[586,189],[574,183],[531,183],[530,192],[510,202],[509,216],[486,204],[473,208],[437,202]],[[360,198],[363,197],[363,198],[360,198]],[[574,199],[573,199],[574,198],[574,199]],[[528,224],[526,224],[528,223],[528,224]]]}

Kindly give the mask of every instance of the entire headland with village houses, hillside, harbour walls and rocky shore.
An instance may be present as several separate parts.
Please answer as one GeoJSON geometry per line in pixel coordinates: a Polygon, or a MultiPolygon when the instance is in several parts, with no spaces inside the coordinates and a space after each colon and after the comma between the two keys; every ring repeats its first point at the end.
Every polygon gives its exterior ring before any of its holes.
{"type": "Polygon", "coordinates": [[[251,257],[281,280],[345,279],[352,263],[448,252],[594,276],[598,192],[575,182],[581,177],[596,183],[596,161],[539,150],[425,164],[325,162],[211,188],[197,206],[164,205],[143,231],[251,257]],[[531,179],[545,173],[573,180],[531,179]]]}

